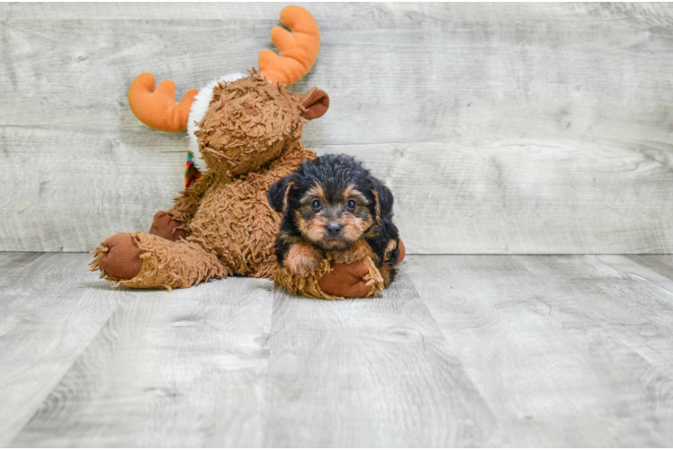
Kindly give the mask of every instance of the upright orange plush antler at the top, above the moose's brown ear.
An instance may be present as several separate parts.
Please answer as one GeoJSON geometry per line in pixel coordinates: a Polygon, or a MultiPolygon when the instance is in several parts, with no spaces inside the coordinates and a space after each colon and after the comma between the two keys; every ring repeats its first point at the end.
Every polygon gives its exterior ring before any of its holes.
{"type": "Polygon", "coordinates": [[[259,53],[259,71],[272,83],[293,85],[309,73],[318,58],[320,31],[313,16],[301,6],[287,6],[281,11],[282,27],[274,27],[271,40],[280,51],[276,55],[265,49],[259,53]]]}

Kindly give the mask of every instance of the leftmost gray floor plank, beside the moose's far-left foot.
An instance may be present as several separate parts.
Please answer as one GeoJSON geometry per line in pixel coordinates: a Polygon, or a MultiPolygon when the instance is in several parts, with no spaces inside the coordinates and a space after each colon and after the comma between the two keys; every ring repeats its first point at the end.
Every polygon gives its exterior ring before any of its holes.
{"type": "Polygon", "coordinates": [[[126,293],[88,254],[0,253],[0,448],[40,408],[126,293]]]}

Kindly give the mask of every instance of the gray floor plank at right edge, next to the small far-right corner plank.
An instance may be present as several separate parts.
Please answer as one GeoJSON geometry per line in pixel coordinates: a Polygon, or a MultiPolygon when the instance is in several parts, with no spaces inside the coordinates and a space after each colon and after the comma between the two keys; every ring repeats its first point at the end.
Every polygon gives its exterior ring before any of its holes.
{"type": "Polygon", "coordinates": [[[565,257],[524,260],[548,292],[570,293],[560,306],[595,320],[673,377],[673,280],[618,255],[579,257],[578,264],[565,257]]]}

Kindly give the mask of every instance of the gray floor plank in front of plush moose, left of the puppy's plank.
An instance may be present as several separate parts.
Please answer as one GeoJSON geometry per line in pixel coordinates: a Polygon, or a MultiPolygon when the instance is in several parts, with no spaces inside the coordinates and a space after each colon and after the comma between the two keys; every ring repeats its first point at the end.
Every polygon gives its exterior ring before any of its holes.
{"type": "Polygon", "coordinates": [[[131,291],[13,446],[261,447],[273,287],[131,291]]]}

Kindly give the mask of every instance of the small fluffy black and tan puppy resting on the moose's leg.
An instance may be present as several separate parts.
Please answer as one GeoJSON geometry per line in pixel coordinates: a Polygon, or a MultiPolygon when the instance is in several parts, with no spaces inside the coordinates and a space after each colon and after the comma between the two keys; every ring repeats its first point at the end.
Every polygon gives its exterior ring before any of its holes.
{"type": "Polygon", "coordinates": [[[371,257],[384,287],[395,278],[399,233],[392,193],[353,157],[304,161],[271,187],[268,200],[283,212],[276,257],[292,274],[307,277],[325,257],[345,263],[371,257]]]}

